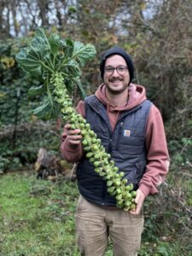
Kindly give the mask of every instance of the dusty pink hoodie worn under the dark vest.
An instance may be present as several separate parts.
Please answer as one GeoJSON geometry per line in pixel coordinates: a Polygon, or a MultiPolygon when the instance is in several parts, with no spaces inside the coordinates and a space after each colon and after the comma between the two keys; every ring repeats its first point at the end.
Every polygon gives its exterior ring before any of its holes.
{"type": "MultiPolygon", "coordinates": [[[[100,102],[107,106],[112,129],[116,125],[121,111],[134,108],[146,99],[145,88],[142,85],[130,84],[128,90],[128,102],[122,107],[115,107],[108,102],[104,84],[101,84],[96,90],[96,97],[100,102]]],[[[83,117],[85,116],[84,102],[79,102],[77,112],[81,113],[83,117]]],[[[169,154],[166,146],[164,125],[160,111],[154,106],[154,104],[148,114],[146,128],[145,143],[148,152],[148,164],[146,166],[146,171],[140,180],[139,189],[141,189],[147,197],[149,194],[153,195],[158,193],[158,186],[163,183],[169,168],[169,154]]],[[[77,148],[70,148],[70,144],[67,142],[67,133],[65,130],[62,135],[61,154],[64,159],[70,162],[79,161],[83,154],[81,145],[77,146],[77,148]]]]}

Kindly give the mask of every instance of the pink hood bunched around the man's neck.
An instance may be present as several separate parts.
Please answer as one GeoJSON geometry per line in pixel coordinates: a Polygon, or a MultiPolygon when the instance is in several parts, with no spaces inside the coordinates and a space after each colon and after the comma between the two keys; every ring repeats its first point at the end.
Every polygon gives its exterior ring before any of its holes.
{"type": "Polygon", "coordinates": [[[108,98],[106,96],[105,84],[101,84],[98,87],[98,89],[96,90],[95,96],[100,102],[102,102],[105,106],[107,106],[108,112],[113,112],[113,111],[121,112],[121,111],[129,110],[131,108],[135,108],[137,105],[141,104],[147,98],[145,88],[142,85],[130,84],[127,90],[129,90],[129,94],[128,94],[129,98],[125,106],[113,106],[113,104],[111,104],[108,101],[108,98]]]}

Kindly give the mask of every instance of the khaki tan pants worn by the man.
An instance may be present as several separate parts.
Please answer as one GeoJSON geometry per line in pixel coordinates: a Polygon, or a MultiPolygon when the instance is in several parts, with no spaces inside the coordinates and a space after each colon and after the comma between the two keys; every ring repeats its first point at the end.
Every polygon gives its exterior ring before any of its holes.
{"type": "Polygon", "coordinates": [[[108,236],[114,256],[136,256],[143,231],[143,212],[131,215],[120,209],[105,209],[82,196],[76,211],[76,232],[81,255],[103,256],[108,236]]]}

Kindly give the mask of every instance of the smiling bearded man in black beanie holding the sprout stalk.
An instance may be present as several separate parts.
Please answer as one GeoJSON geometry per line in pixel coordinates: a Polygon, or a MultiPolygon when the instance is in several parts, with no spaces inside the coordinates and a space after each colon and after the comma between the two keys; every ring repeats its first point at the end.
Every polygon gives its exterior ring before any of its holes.
{"type": "Polygon", "coordinates": [[[137,190],[135,211],[116,207],[106,182],[84,156],[80,130],[65,125],[62,156],[78,162],[80,198],[76,229],[81,255],[102,256],[113,242],[113,255],[136,256],[143,231],[143,201],[158,192],[168,172],[169,155],[160,111],[149,102],[145,89],[132,84],[134,66],[124,49],[113,47],[102,55],[103,84],[95,96],[79,102],[77,111],[90,123],[119,171],[137,190]]]}

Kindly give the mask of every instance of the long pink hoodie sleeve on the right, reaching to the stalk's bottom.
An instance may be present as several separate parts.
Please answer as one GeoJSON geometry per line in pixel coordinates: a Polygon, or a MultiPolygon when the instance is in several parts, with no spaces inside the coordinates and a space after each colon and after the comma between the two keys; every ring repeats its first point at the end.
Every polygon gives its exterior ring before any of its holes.
{"type": "Polygon", "coordinates": [[[146,127],[147,166],[140,180],[139,189],[147,197],[158,193],[169,168],[169,154],[166,146],[166,134],[160,111],[154,105],[150,109],[146,127]]]}

